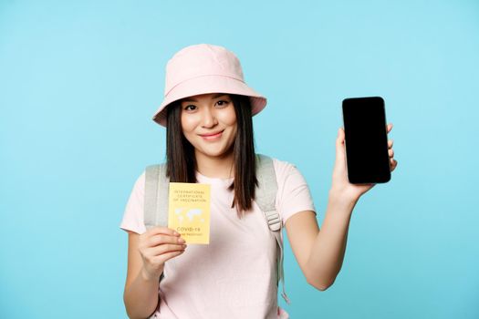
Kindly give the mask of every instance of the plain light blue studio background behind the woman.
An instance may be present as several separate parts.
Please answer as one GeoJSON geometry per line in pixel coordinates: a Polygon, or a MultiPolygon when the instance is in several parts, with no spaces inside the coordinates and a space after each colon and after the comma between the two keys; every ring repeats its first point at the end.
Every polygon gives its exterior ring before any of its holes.
{"type": "Polygon", "coordinates": [[[479,317],[477,1],[0,1],[0,315],[124,318],[134,180],[183,46],[240,58],[268,98],[257,151],[310,184],[321,224],[343,98],[382,96],[392,180],[359,201],[326,292],[286,243],[292,318],[479,317]]]}

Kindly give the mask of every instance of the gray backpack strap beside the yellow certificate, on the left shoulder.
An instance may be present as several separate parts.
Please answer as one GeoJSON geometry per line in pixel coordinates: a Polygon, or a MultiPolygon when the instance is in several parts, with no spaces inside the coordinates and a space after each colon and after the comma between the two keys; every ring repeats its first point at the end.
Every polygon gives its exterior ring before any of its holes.
{"type": "Polygon", "coordinates": [[[168,191],[170,179],[166,165],[150,165],[145,170],[144,222],[146,229],[153,226],[168,227],[168,191]]]}

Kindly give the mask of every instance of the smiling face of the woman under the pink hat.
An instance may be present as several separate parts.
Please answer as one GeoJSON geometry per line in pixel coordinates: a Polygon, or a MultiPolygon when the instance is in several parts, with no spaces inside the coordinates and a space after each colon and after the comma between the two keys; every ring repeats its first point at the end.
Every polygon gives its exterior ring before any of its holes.
{"type": "Polygon", "coordinates": [[[202,94],[183,98],[182,132],[199,157],[221,158],[231,155],[236,137],[236,114],[227,94],[202,94]]]}

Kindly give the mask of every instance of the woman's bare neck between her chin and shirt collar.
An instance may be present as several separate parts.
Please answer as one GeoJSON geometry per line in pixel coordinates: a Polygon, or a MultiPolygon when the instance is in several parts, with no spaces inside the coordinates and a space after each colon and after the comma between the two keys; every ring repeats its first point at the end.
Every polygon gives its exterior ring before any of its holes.
{"type": "Polygon", "coordinates": [[[234,177],[233,151],[219,157],[209,157],[195,151],[197,170],[200,174],[214,179],[229,179],[234,177]]]}

